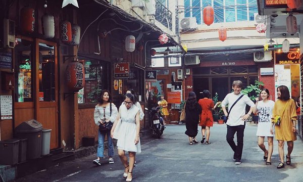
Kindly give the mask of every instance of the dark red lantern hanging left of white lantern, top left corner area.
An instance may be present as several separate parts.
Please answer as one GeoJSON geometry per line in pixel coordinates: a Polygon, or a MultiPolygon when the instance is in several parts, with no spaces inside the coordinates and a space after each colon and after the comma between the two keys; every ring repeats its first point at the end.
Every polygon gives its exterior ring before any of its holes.
{"type": "Polygon", "coordinates": [[[20,27],[23,33],[32,33],[35,29],[35,10],[29,7],[21,9],[20,27]]]}

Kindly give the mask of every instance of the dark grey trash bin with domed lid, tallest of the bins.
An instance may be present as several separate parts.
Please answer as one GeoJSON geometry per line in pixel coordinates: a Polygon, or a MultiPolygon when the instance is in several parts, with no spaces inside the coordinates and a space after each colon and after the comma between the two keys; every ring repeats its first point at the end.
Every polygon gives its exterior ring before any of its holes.
{"type": "Polygon", "coordinates": [[[41,156],[42,124],[32,119],[24,121],[15,128],[16,138],[27,139],[27,159],[36,159],[41,156]]]}

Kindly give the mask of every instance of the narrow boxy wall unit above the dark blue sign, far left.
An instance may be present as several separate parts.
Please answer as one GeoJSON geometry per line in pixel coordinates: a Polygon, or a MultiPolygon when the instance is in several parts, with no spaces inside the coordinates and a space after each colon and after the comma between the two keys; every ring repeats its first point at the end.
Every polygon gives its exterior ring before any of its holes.
{"type": "Polygon", "coordinates": [[[4,19],[4,44],[15,48],[15,21],[4,19]]]}

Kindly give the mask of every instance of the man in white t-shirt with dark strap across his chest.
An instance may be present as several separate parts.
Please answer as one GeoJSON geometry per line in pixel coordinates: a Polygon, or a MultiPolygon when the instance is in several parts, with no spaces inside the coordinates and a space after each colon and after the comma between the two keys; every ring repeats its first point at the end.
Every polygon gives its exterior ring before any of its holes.
{"type": "Polygon", "coordinates": [[[227,94],[221,103],[222,110],[225,116],[228,115],[227,133],[226,141],[230,145],[231,149],[234,151],[233,159],[235,164],[241,164],[242,150],[243,150],[243,137],[245,120],[249,117],[254,108],[255,104],[246,95],[244,95],[232,108],[230,113],[226,111],[226,105],[228,104],[228,109],[236,102],[236,100],[242,96],[241,93],[243,83],[240,80],[235,80],[232,82],[233,93],[227,94]],[[250,106],[247,114],[245,114],[246,104],[250,106]],[[234,135],[237,132],[237,145],[234,142],[234,135]]]}

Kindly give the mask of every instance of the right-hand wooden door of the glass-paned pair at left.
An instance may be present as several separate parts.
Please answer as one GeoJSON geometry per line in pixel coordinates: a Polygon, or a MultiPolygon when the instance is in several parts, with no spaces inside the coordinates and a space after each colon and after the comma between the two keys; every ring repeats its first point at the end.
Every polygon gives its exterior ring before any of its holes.
{"type": "Polygon", "coordinates": [[[36,39],[35,117],[51,131],[51,149],[59,147],[57,44],[36,39]]]}

